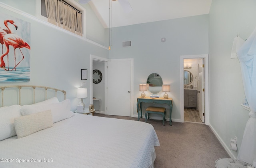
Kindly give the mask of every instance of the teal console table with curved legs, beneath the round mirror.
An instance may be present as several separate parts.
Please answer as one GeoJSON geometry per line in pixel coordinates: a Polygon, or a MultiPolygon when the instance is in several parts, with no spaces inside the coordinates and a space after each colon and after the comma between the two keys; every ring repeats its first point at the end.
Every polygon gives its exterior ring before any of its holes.
{"type": "Polygon", "coordinates": [[[152,103],[152,104],[168,104],[170,106],[170,126],[172,125],[172,98],[150,98],[150,97],[139,97],[137,98],[137,112],[138,112],[138,121],[142,118],[142,102],[152,103]]]}

